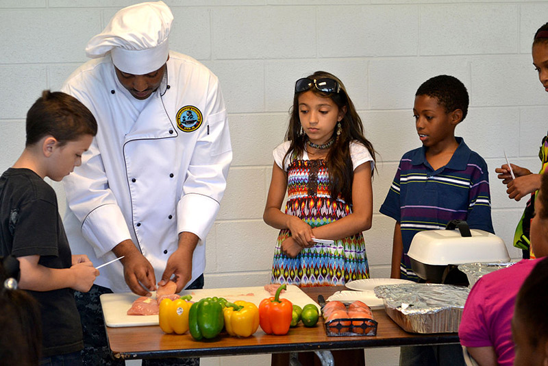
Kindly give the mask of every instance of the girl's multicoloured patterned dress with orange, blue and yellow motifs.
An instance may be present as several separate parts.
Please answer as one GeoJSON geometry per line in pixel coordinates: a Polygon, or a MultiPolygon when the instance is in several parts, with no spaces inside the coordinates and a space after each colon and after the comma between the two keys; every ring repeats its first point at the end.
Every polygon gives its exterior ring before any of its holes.
{"type": "MultiPolygon", "coordinates": [[[[349,215],[351,206],[329,191],[329,174],[324,160],[294,160],[288,175],[286,214],[300,217],[312,228],[349,215]]],[[[362,233],[336,240],[332,245],[316,243],[304,248],[296,258],[280,250],[287,229],[278,235],[272,268],[272,283],[298,286],[335,286],[369,278],[369,265],[362,233]]]]}

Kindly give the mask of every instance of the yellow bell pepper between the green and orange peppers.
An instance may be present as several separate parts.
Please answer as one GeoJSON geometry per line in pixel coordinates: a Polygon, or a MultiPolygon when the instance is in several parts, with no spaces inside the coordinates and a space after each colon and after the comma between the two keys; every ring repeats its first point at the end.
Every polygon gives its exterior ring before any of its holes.
{"type": "Polygon", "coordinates": [[[227,302],[223,309],[225,329],[231,336],[249,337],[259,328],[259,309],[252,302],[243,300],[227,302]]]}

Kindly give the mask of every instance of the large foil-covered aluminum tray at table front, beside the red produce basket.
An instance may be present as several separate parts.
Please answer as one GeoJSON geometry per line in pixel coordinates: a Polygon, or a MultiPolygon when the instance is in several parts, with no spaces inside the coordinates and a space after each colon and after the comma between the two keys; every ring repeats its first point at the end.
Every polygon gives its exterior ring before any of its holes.
{"type": "Polygon", "coordinates": [[[470,289],[452,284],[393,284],[375,287],[386,314],[406,332],[458,332],[470,289]]]}

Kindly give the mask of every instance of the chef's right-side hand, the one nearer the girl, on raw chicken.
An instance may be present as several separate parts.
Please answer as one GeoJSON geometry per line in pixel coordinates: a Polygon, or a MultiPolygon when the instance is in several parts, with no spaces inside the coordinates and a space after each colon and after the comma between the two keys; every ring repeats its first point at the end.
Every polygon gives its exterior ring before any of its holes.
{"type": "Polygon", "coordinates": [[[166,269],[162,274],[162,280],[158,286],[163,286],[172,277],[177,284],[177,293],[182,291],[184,285],[192,278],[192,254],[198,244],[199,237],[192,232],[182,232],[179,234],[179,245],[177,250],[169,256],[166,269]]]}

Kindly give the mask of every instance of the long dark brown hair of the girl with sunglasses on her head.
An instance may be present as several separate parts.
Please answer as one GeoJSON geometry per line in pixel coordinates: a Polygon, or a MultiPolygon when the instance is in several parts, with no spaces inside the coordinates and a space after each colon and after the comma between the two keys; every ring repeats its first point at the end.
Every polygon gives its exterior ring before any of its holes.
{"type": "MultiPolygon", "coordinates": [[[[340,121],[340,135],[327,154],[326,165],[329,171],[329,188],[332,197],[336,199],[340,194],[345,199],[345,202],[351,204],[354,170],[350,157],[350,143],[351,141],[357,141],[364,145],[373,157],[373,162],[375,162],[375,149],[373,149],[371,142],[364,137],[362,119],[360,119],[358,112],[356,112],[354,103],[348,97],[343,82],[335,75],[326,73],[325,71],[316,71],[308,76],[308,78],[312,80],[329,78],[336,80],[340,85],[339,93],[323,93],[314,86],[309,90],[312,90],[312,93],[319,97],[332,99],[339,110],[343,110],[346,107],[347,112],[345,113],[345,117],[340,121]]],[[[286,132],[286,141],[290,141],[290,145],[284,161],[289,156],[292,159],[297,157],[302,158],[305,149],[307,136],[306,134],[300,134],[301,120],[299,118],[299,95],[302,93],[306,92],[295,93],[295,97],[293,97],[293,106],[290,109],[289,125],[286,132]]],[[[335,127],[334,134],[336,134],[336,131],[337,127],[335,127]]]]}

